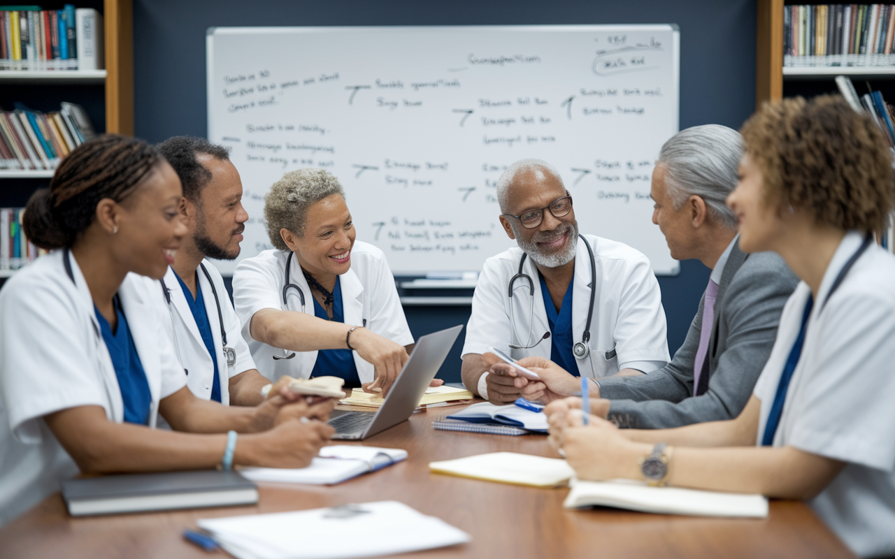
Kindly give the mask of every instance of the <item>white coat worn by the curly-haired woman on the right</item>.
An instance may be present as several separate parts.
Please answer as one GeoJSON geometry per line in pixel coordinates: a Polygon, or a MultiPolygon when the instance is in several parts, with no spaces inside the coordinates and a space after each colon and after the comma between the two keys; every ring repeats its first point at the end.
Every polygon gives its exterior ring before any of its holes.
{"type": "MultiPolygon", "coordinates": [[[[840,242],[814,300],[805,342],[789,381],[773,445],[845,462],[809,504],[858,556],[895,554],[895,258],[871,243],[831,292],[861,246],[840,242]]],[[[754,394],[761,400],[756,445],[799,331],[811,289],[797,285],[754,394]]]]}

